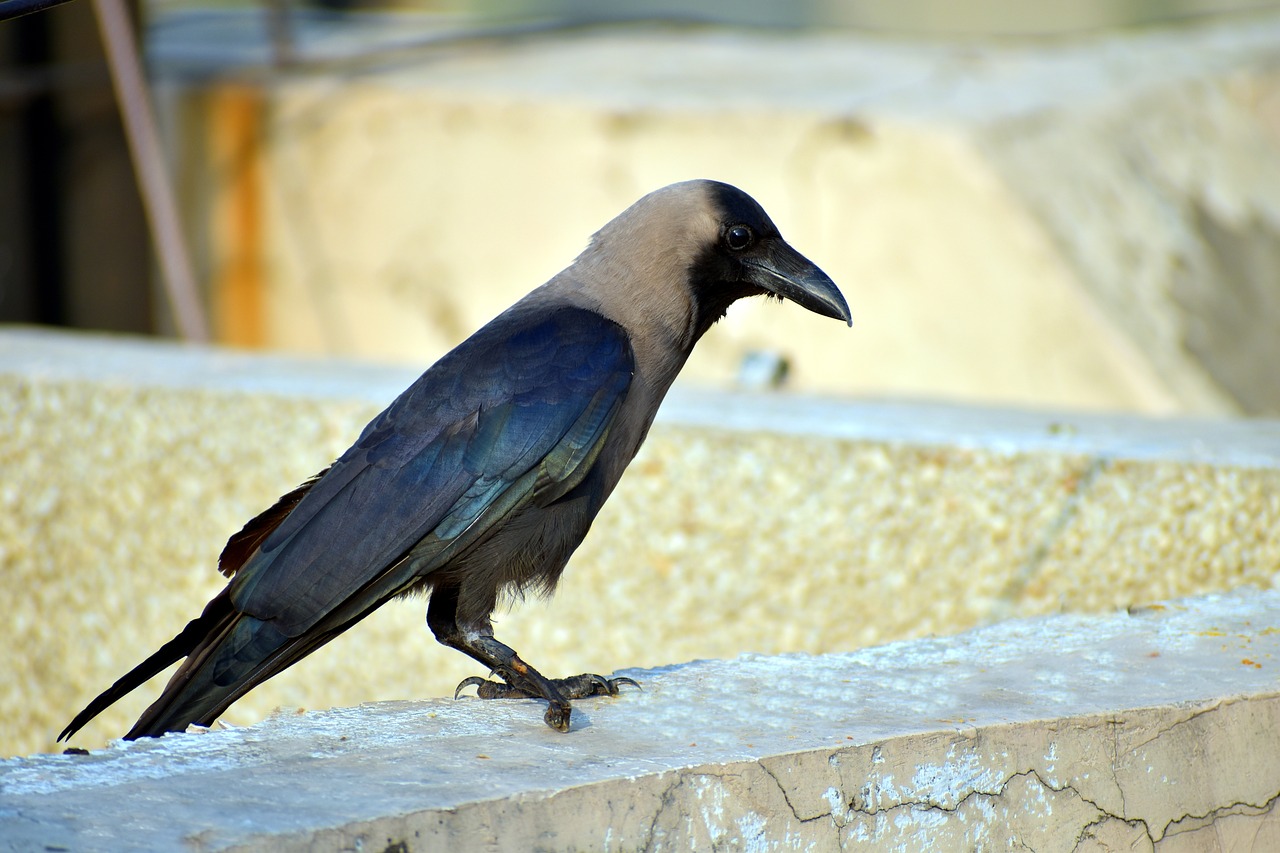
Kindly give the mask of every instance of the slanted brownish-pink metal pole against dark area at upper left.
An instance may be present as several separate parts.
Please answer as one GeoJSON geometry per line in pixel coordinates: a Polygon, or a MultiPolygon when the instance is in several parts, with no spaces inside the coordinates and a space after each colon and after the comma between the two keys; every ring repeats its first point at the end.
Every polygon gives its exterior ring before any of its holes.
{"type": "Polygon", "coordinates": [[[111,82],[115,86],[115,97],[120,102],[129,154],[133,155],[133,170],[142,191],[142,205],[151,225],[151,238],[156,246],[174,323],[183,338],[207,342],[209,323],[196,288],[191,255],[187,252],[187,243],[178,224],[178,202],[165,169],[160,133],[147,97],[142,61],[129,26],[129,13],[124,8],[124,0],[93,0],[93,12],[102,32],[106,61],[111,68],[111,82]]]}

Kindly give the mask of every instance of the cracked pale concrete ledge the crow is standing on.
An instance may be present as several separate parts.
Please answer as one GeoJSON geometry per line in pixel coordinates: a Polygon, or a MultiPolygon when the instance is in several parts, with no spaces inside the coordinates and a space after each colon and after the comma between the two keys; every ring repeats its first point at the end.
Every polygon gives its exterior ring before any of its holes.
{"type": "Polygon", "coordinates": [[[1199,850],[1280,844],[1280,590],[0,762],[0,849],[1199,850]]]}

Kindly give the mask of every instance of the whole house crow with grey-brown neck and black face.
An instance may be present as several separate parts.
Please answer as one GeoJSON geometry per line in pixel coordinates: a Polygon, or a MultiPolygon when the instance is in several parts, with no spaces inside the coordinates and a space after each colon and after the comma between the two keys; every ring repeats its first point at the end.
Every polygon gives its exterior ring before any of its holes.
{"type": "Polygon", "coordinates": [[[694,345],[758,295],[850,319],[831,279],[742,191],[690,181],[645,196],[233,535],[219,558],[227,587],[59,739],[180,658],[124,736],[210,725],[415,592],[430,596],[435,638],[500,679],[460,690],[545,699],[547,725],[567,731],[570,699],[635,683],[544,678],[494,637],[490,613],[504,592],[554,589],[694,345]]]}

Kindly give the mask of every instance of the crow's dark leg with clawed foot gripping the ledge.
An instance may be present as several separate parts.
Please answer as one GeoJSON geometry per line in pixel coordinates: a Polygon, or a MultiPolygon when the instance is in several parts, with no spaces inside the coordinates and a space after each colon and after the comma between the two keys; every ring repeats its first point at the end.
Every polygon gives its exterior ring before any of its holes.
{"type": "Polygon", "coordinates": [[[481,699],[545,699],[547,713],[543,720],[557,731],[568,731],[570,699],[582,699],[589,695],[617,695],[618,686],[631,684],[640,686],[628,678],[607,679],[603,675],[584,672],[567,679],[548,679],[541,672],[520,660],[513,648],[493,635],[493,626],[485,621],[470,629],[460,628],[456,619],[457,588],[436,588],[431,592],[431,603],[426,610],[426,624],[435,639],[456,648],[481,663],[500,678],[503,683],[468,678],[454,690],[454,697],[471,685],[481,699]]]}

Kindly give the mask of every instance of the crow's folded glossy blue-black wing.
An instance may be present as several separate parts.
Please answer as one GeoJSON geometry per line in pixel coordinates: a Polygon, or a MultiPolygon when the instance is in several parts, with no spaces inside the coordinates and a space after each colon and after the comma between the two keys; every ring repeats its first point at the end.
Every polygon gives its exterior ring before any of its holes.
{"type": "Polygon", "coordinates": [[[594,462],[632,371],[622,328],[585,309],[486,327],[310,487],[239,570],[232,601],[297,637],[420,542],[470,540],[535,493],[562,494],[594,462]]]}

